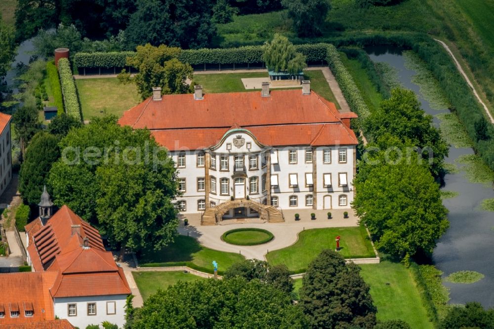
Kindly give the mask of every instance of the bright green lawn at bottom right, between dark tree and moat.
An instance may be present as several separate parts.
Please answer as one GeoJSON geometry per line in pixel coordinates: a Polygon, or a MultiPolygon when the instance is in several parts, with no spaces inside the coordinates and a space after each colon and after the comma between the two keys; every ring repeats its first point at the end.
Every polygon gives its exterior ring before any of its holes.
{"type": "Polygon", "coordinates": [[[360,267],[360,275],[371,286],[378,320],[401,319],[413,329],[433,328],[408,268],[389,261],[360,267]]]}

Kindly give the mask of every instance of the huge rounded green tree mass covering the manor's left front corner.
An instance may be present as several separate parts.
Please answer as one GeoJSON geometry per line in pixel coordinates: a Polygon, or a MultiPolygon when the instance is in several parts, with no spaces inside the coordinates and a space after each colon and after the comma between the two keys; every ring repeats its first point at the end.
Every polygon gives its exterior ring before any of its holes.
{"type": "Polygon", "coordinates": [[[48,179],[57,206],[70,206],[115,247],[161,248],[173,240],[175,168],[149,130],[93,119],[60,146],[48,179]]]}

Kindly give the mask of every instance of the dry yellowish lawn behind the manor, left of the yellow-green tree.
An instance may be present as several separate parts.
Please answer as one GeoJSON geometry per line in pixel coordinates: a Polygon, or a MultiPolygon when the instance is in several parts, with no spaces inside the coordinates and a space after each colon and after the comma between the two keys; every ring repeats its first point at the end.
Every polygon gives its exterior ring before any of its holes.
{"type": "Polygon", "coordinates": [[[120,118],[140,102],[135,84],[122,84],[117,78],[76,79],[76,87],[84,120],[108,114],[120,118]]]}

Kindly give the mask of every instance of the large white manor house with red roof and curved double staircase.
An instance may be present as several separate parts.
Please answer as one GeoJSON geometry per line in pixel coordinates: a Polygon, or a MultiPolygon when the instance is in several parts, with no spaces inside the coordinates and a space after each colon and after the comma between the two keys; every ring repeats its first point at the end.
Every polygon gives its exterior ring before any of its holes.
{"type": "Polygon", "coordinates": [[[178,169],[183,213],[203,225],[234,217],[283,221],[282,209],[350,208],[354,197],[353,112],[302,82],[302,90],[153,96],[119,123],[148,128],[178,169]]]}

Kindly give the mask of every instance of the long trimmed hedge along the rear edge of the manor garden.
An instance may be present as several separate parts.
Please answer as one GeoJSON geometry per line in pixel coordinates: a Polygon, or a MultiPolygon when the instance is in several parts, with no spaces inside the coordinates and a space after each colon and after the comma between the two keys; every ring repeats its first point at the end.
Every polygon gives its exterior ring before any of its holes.
{"type": "MultiPolygon", "coordinates": [[[[307,56],[309,62],[326,60],[327,43],[295,45],[297,51],[307,56]]],[[[126,58],[135,56],[135,52],[78,52],[74,55],[77,68],[125,67],[126,58]]],[[[190,65],[201,64],[251,64],[262,63],[260,45],[239,48],[203,48],[182,50],[178,56],[181,62],[190,65]]]]}

